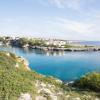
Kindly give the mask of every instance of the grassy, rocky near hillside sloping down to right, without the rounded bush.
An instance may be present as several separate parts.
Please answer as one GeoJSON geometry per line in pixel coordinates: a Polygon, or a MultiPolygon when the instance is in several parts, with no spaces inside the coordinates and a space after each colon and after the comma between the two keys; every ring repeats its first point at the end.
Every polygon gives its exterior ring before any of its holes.
{"type": "Polygon", "coordinates": [[[99,96],[40,75],[25,59],[0,52],[0,100],[99,100],[99,96]]]}

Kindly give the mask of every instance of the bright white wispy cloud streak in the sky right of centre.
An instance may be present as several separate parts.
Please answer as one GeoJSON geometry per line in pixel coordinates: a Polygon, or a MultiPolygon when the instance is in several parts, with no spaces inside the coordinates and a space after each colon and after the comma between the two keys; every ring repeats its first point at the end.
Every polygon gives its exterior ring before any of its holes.
{"type": "Polygon", "coordinates": [[[48,21],[48,23],[54,24],[55,26],[59,26],[60,29],[64,30],[65,32],[70,31],[75,33],[88,32],[88,28],[91,27],[91,24],[60,17],[56,18],[55,20],[52,20],[51,22],[48,21]]]}

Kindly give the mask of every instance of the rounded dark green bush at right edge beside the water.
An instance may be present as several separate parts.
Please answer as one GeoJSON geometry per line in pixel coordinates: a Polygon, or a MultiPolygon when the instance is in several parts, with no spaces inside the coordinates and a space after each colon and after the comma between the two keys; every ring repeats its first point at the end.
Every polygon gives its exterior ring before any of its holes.
{"type": "Polygon", "coordinates": [[[82,89],[89,89],[93,91],[100,91],[100,73],[93,72],[86,74],[73,84],[82,89]]]}

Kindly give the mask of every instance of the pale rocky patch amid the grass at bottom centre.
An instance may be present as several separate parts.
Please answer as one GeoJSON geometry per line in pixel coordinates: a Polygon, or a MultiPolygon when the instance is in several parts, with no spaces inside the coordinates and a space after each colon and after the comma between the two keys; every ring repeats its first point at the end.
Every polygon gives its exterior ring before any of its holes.
{"type": "Polygon", "coordinates": [[[43,100],[48,100],[48,98],[50,100],[59,100],[61,96],[64,97],[65,95],[64,91],[60,88],[57,88],[55,85],[40,82],[37,80],[35,86],[37,88],[38,94],[38,96],[36,96],[36,100],[38,100],[37,98],[40,98],[40,95],[42,98],[44,98],[43,100]]]}

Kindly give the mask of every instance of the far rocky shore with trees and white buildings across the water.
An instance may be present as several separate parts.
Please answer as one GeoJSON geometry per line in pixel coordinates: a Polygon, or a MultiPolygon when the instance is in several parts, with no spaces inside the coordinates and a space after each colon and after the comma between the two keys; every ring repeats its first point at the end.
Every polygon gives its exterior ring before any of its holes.
{"type": "Polygon", "coordinates": [[[42,40],[28,38],[1,37],[0,45],[10,45],[19,48],[38,49],[43,51],[100,51],[100,46],[81,45],[78,43],[68,43],[62,40],[42,40]]]}

